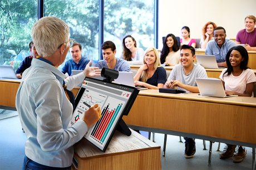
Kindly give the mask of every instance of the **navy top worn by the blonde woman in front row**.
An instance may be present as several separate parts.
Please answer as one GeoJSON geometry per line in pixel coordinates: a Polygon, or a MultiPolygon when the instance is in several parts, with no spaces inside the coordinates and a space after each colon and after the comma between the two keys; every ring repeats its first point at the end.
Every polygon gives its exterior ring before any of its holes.
{"type": "MultiPolygon", "coordinates": [[[[165,84],[167,81],[166,70],[162,66],[159,66],[151,78],[147,79],[146,83],[157,86],[159,83],[165,84]]],[[[141,81],[141,80],[140,80],[141,81]]]]}

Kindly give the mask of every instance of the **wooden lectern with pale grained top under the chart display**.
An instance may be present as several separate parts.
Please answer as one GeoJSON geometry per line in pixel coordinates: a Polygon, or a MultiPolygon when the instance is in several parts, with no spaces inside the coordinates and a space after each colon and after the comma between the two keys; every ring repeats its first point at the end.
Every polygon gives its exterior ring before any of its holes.
{"type": "Polygon", "coordinates": [[[105,153],[82,138],[74,146],[78,170],[161,169],[160,146],[131,131],[131,136],[116,131],[105,153]]]}

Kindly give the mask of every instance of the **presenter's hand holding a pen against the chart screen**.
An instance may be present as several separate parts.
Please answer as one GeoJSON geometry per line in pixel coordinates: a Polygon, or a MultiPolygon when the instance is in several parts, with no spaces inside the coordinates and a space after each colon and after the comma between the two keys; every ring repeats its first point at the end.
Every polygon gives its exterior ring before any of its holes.
{"type": "Polygon", "coordinates": [[[101,110],[98,104],[92,105],[83,116],[83,121],[86,122],[87,128],[91,127],[101,117],[101,110]]]}

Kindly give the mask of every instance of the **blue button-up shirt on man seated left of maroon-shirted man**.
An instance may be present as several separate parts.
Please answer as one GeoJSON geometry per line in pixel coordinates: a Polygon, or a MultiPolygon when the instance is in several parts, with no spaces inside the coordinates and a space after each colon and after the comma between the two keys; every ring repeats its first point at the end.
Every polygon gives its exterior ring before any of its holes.
{"type": "Polygon", "coordinates": [[[206,45],[205,54],[215,55],[217,63],[222,63],[226,61],[226,55],[232,47],[235,47],[235,42],[230,39],[226,39],[221,48],[219,48],[215,40],[210,40],[206,45]]]}

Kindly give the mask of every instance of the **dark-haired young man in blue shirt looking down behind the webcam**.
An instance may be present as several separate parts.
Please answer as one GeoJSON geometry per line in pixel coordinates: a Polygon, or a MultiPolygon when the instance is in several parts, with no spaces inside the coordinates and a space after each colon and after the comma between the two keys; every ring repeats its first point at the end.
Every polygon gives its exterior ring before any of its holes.
{"type": "Polygon", "coordinates": [[[113,42],[104,42],[101,44],[101,50],[104,60],[98,61],[95,64],[96,67],[100,69],[109,68],[117,71],[131,71],[130,65],[126,60],[115,57],[116,45],[113,42]]]}

